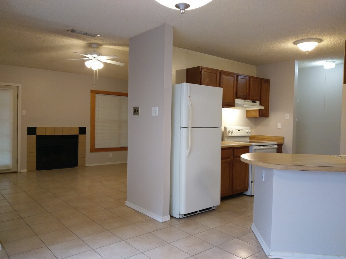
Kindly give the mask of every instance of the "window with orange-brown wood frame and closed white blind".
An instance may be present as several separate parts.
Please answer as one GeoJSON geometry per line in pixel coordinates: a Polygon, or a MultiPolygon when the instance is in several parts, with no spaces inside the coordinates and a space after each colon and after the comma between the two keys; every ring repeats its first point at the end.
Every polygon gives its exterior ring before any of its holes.
{"type": "Polygon", "coordinates": [[[91,90],[90,152],[127,150],[128,94],[91,90]]]}

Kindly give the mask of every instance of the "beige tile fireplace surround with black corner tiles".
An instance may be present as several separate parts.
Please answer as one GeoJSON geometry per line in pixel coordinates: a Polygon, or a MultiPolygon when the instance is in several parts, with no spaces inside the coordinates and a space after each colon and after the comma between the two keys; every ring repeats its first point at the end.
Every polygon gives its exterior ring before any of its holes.
{"type": "Polygon", "coordinates": [[[28,127],[27,172],[36,170],[36,135],[78,135],[78,166],[85,166],[86,127],[28,127]]]}

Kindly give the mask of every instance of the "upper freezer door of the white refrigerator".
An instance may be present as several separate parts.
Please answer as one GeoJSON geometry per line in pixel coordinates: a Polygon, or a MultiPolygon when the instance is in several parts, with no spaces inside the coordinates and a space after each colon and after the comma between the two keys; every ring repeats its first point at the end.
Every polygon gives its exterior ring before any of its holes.
{"type": "Polygon", "coordinates": [[[222,88],[181,84],[181,127],[221,127],[222,88]]]}

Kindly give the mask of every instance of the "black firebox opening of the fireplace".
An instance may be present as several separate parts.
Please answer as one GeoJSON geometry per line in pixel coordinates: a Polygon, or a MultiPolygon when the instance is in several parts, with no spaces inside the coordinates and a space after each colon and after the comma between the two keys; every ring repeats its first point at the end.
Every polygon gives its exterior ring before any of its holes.
{"type": "Polygon", "coordinates": [[[37,135],[36,170],[78,166],[78,135],[37,135]]]}

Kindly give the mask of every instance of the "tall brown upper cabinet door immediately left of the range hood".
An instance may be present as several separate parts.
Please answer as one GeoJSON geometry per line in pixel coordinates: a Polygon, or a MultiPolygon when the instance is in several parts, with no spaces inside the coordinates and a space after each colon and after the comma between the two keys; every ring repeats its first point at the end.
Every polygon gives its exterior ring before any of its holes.
{"type": "Polygon", "coordinates": [[[222,107],[234,107],[236,98],[236,78],[237,74],[220,72],[220,87],[223,89],[222,93],[222,107]]]}

